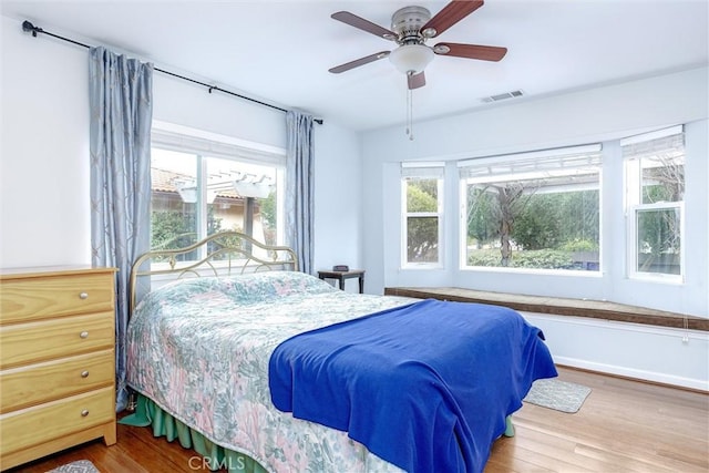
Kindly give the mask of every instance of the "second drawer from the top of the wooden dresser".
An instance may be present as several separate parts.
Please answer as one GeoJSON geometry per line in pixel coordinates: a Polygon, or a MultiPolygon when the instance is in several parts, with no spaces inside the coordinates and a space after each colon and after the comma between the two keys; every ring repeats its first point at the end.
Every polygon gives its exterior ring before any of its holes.
{"type": "Polygon", "coordinates": [[[114,312],[0,326],[0,369],[113,348],[114,312]]]}

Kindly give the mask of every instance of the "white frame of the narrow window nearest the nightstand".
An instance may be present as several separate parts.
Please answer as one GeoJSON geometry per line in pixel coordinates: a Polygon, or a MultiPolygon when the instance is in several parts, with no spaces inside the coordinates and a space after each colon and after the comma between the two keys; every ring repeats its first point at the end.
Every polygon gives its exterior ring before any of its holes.
{"type": "Polygon", "coordinates": [[[443,269],[444,247],[444,188],[445,163],[442,162],[403,162],[401,163],[401,255],[400,267],[402,269],[443,269]],[[408,210],[408,179],[436,179],[436,212],[409,212],[408,210]],[[438,219],[436,261],[409,261],[409,218],[438,219]]]}

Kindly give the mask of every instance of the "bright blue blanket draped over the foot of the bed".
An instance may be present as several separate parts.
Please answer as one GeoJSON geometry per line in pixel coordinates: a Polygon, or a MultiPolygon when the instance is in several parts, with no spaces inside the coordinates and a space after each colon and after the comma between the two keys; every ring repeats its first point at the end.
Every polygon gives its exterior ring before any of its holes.
{"type": "Polygon", "coordinates": [[[532,382],[556,376],[514,310],[424,300],[295,336],[274,351],[274,405],[408,472],[482,472],[532,382]]]}

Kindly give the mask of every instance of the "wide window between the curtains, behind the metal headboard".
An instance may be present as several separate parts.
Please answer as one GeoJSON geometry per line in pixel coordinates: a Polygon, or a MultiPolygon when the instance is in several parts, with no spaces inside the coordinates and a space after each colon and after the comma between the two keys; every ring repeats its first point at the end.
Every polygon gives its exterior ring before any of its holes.
{"type": "Polygon", "coordinates": [[[282,155],[161,130],[152,140],[152,248],[185,247],[224,230],[282,241],[282,155]]]}

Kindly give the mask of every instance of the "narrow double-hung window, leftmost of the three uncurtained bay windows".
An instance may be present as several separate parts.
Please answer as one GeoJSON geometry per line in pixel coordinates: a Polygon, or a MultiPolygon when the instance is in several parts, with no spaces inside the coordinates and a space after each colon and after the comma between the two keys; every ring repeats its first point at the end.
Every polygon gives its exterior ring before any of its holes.
{"type": "Polygon", "coordinates": [[[402,163],[403,267],[440,267],[443,164],[402,163]]]}

